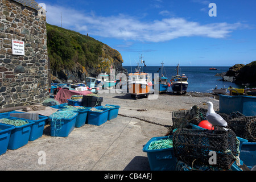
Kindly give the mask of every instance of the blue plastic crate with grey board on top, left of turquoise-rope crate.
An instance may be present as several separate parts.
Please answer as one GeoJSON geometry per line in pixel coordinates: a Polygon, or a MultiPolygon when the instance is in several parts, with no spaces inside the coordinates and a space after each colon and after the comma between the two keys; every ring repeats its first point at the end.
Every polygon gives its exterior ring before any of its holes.
{"type": "MultiPolygon", "coordinates": [[[[22,113],[22,112],[10,111],[7,113],[2,113],[1,115],[10,116],[11,113],[22,113]]],[[[20,118],[16,118],[16,117],[13,117],[13,118],[20,119],[20,118]]],[[[47,119],[48,119],[48,117],[43,116],[43,115],[39,115],[38,120],[27,119],[27,121],[34,122],[34,124],[32,125],[32,128],[31,128],[30,138],[28,139],[28,141],[34,141],[34,140],[42,137],[43,132],[44,132],[44,125],[46,124],[47,119]]]]}

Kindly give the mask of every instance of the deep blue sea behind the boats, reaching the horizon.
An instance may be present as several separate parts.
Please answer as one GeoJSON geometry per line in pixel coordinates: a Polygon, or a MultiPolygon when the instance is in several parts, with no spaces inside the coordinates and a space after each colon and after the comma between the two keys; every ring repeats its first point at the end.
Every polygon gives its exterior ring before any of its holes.
{"type": "MultiPolygon", "coordinates": [[[[123,67],[127,69],[129,73],[134,72],[136,67],[123,67]]],[[[159,67],[143,67],[143,72],[152,73],[152,78],[154,78],[154,73],[161,75],[161,70],[159,67]],[[159,71],[159,72],[158,72],[159,71]]],[[[222,81],[221,76],[215,76],[217,73],[227,72],[230,67],[214,67],[217,70],[210,70],[211,67],[180,67],[179,75],[185,74],[188,77],[188,89],[187,92],[212,92],[216,86],[218,88],[228,88],[232,86],[234,88],[241,88],[240,85],[236,85],[233,82],[222,81]]],[[[171,77],[175,76],[177,71],[176,67],[164,67],[168,82],[170,82],[171,77]]],[[[164,73],[164,72],[163,72],[164,73]]],[[[168,88],[168,92],[172,92],[171,87],[168,88]]]]}

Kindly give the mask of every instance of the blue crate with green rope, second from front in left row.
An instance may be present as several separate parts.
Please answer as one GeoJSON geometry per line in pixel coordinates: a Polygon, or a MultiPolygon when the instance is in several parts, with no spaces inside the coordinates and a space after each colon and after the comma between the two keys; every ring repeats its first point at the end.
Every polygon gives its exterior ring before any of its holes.
{"type": "MultiPolygon", "coordinates": [[[[0,118],[17,119],[17,118],[8,117],[5,115],[0,115],[0,118]]],[[[19,119],[22,119],[22,118],[19,118],[19,119]]],[[[22,126],[14,126],[15,128],[11,130],[11,135],[10,135],[7,149],[16,150],[17,148],[20,148],[28,143],[28,139],[30,138],[31,128],[34,122],[28,119],[22,119],[22,120],[27,121],[28,124],[22,125],[22,126]]],[[[10,126],[13,126],[13,125],[10,125],[10,126]]]]}

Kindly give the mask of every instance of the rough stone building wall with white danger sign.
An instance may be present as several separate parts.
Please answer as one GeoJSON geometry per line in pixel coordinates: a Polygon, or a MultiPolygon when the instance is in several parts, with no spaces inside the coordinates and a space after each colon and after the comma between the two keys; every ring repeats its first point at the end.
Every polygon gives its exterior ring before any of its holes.
{"type": "Polygon", "coordinates": [[[45,11],[34,0],[0,0],[0,108],[48,96],[45,11]]]}

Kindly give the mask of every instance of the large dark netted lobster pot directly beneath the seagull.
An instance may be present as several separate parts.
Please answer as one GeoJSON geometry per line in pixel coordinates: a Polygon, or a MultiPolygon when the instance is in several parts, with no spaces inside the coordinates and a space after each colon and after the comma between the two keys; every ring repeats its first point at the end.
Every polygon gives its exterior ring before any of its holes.
{"type": "Polygon", "coordinates": [[[175,157],[189,166],[229,169],[239,152],[239,142],[232,130],[177,129],[173,142],[175,157]],[[215,160],[209,163],[211,156],[215,160]]]}

